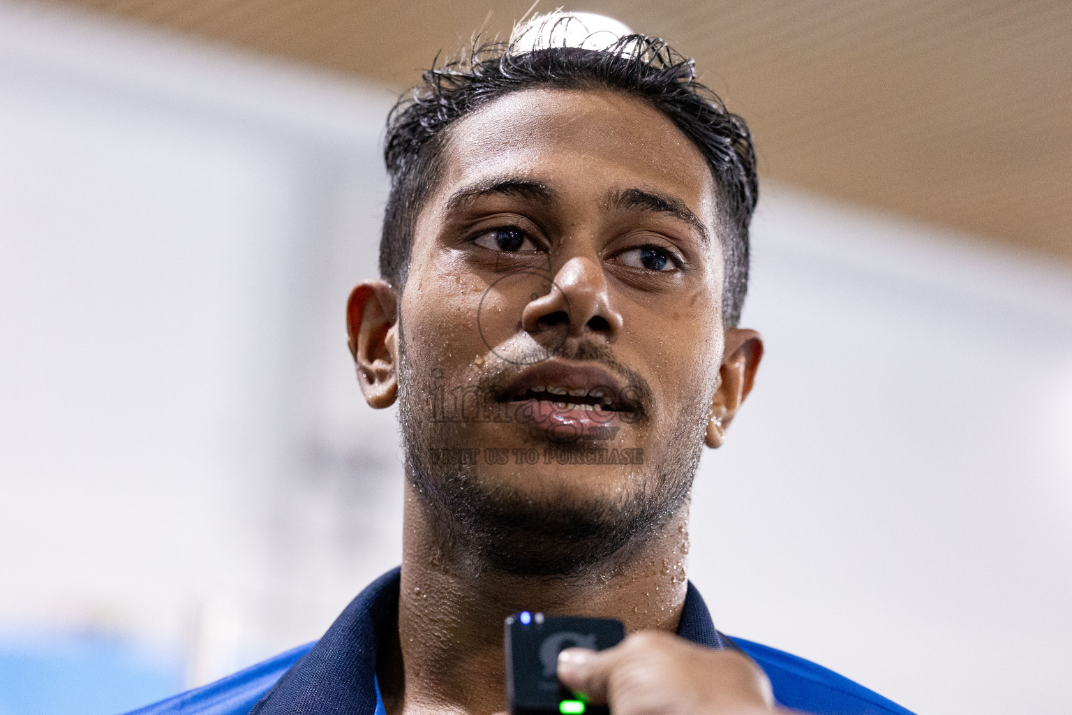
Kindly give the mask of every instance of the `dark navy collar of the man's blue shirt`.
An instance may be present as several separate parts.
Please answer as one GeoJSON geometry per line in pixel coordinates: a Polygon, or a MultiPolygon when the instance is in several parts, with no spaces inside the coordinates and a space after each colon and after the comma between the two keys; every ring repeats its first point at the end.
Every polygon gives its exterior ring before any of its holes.
{"type": "MultiPolygon", "coordinates": [[[[376,646],[398,623],[400,571],[398,567],[387,571],[359,593],[250,715],[374,715],[376,646]]],[[[708,647],[738,650],[715,629],[691,582],[678,635],[708,647]]]]}

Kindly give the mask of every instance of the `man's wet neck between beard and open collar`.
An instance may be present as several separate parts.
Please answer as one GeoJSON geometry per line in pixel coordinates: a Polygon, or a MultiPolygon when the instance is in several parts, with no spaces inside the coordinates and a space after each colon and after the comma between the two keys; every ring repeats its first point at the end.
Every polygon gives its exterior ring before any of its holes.
{"type": "Polygon", "coordinates": [[[407,480],[398,641],[382,645],[377,668],[388,715],[505,710],[503,621],[510,613],[617,619],[626,632],[674,632],[687,587],[687,522],[686,503],[606,572],[519,576],[486,567],[464,547],[445,549],[447,536],[407,480]]]}

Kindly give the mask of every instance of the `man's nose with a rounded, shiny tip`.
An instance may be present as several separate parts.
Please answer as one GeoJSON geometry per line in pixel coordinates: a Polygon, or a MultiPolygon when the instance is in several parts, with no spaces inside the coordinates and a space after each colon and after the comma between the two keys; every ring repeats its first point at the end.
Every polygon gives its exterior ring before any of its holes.
{"type": "Polygon", "coordinates": [[[522,327],[534,337],[565,326],[570,338],[602,337],[614,342],[622,315],[611,304],[607,278],[596,260],[575,256],[554,275],[547,295],[534,298],[521,313],[522,327]]]}

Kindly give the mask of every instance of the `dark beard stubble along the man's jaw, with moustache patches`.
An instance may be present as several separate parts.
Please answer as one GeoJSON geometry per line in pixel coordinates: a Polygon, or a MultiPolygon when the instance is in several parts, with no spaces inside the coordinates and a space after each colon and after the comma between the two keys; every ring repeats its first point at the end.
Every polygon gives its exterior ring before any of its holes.
{"type": "MultiPolygon", "coordinates": [[[[487,568],[563,579],[613,574],[687,504],[710,409],[706,390],[694,392],[697,398],[682,404],[660,458],[653,461],[645,455],[643,465],[623,466],[622,479],[608,492],[579,496],[560,489],[534,498],[516,485],[481,478],[479,464],[445,464],[430,458],[442,453],[433,450],[476,445],[464,442],[467,423],[432,418],[433,369],[412,362],[401,330],[399,342],[405,474],[421,508],[437,526],[445,563],[474,575],[487,568]]],[[[596,360],[622,376],[634,393],[651,394],[643,377],[616,362],[604,346],[581,343],[561,355],[596,360]]],[[[508,371],[489,366],[476,387],[494,390],[508,371]]]]}

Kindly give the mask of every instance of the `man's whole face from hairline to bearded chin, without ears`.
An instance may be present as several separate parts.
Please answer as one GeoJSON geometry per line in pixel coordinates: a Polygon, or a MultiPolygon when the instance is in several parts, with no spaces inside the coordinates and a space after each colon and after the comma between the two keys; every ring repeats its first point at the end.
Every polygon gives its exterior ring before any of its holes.
{"type": "Polygon", "coordinates": [[[581,561],[610,539],[605,557],[685,502],[703,444],[723,357],[711,173],[641,101],[563,90],[460,120],[442,167],[399,306],[411,478],[492,541],[523,526],[507,561],[556,533],[581,561]]]}

